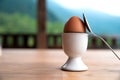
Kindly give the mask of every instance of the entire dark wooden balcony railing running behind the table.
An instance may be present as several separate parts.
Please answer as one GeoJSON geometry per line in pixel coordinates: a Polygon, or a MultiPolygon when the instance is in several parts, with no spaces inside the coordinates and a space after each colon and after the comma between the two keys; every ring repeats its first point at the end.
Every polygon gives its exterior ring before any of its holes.
{"type": "MultiPolygon", "coordinates": [[[[120,48],[118,37],[102,36],[112,48],[120,48]]],[[[0,34],[0,42],[3,48],[37,48],[37,36],[35,34],[0,34]]],[[[62,48],[61,34],[47,35],[47,48],[62,48]]],[[[40,44],[39,44],[40,45],[40,44]]],[[[98,38],[89,36],[89,49],[108,49],[98,38]]]]}

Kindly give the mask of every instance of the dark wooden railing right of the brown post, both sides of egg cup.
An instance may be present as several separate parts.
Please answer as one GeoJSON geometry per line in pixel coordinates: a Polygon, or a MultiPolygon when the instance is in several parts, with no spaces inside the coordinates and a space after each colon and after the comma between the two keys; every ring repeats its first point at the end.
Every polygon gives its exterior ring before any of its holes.
{"type": "MultiPolygon", "coordinates": [[[[117,43],[120,38],[118,37],[108,37],[108,36],[102,36],[108,44],[112,48],[120,48],[119,44],[117,43]]],[[[47,44],[48,48],[61,48],[61,35],[48,35],[47,37],[47,44]]],[[[108,49],[108,47],[102,42],[100,39],[89,36],[89,41],[88,41],[88,48],[89,49],[108,49]]]]}

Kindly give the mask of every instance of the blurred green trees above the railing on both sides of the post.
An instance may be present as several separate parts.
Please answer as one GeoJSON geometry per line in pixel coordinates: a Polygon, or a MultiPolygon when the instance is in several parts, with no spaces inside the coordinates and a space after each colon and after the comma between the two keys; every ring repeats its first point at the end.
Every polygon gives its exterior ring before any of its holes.
{"type": "MultiPolygon", "coordinates": [[[[46,22],[47,34],[60,34],[63,32],[64,23],[47,21],[46,22]]],[[[21,13],[0,13],[0,33],[3,34],[16,34],[16,33],[31,33],[37,32],[37,21],[35,18],[27,14],[21,13]]]]}

